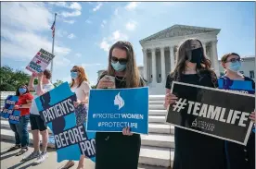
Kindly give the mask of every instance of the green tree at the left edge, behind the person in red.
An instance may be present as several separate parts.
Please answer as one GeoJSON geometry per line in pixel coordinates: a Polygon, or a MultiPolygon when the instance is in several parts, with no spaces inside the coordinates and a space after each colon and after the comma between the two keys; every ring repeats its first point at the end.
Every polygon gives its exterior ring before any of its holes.
{"type": "Polygon", "coordinates": [[[10,66],[0,68],[0,91],[16,91],[20,84],[28,85],[29,81],[30,75],[21,70],[10,66]]]}

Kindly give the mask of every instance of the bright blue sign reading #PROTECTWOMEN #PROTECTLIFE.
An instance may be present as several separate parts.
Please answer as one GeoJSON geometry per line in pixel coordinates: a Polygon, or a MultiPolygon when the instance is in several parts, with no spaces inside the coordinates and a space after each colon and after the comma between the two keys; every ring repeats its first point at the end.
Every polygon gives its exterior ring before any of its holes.
{"type": "Polygon", "coordinates": [[[87,131],[148,134],[148,88],[91,90],[87,131]]]}

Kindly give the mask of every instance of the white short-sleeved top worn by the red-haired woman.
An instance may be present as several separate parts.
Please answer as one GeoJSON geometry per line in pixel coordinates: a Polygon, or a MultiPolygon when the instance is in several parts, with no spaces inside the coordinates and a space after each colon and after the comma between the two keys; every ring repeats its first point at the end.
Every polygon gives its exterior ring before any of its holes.
{"type": "Polygon", "coordinates": [[[71,88],[72,92],[75,92],[76,98],[80,101],[88,101],[89,92],[91,90],[91,87],[88,82],[83,81],[81,83],[81,86],[77,88],[77,86],[73,86],[71,88]]]}

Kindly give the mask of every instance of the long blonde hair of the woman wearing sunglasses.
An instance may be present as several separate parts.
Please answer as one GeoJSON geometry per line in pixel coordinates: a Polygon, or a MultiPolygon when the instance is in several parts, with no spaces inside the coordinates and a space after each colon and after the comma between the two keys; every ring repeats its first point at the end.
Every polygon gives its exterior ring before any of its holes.
{"type": "Polygon", "coordinates": [[[135,61],[135,54],[133,45],[130,42],[119,41],[114,43],[109,50],[109,66],[108,71],[105,72],[110,76],[115,76],[115,70],[111,66],[111,57],[114,48],[122,49],[127,54],[127,64],[124,78],[126,79],[126,88],[136,88],[141,84],[139,70],[135,61]]]}

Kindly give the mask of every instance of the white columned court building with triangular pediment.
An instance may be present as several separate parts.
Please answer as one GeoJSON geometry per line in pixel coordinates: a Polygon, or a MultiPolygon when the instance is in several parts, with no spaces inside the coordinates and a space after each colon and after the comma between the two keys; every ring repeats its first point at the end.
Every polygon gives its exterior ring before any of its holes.
{"type": "Polygon", "coordinates": [[[139,70],[147,80],[149,93],[165,93],[166,77],[174,68],[177,48],[187,38],[197,38],[202,42],[205,54],[211,60],[211,67],[219,76],[217,55],[219,32],[220,29],[173,25],[141,40],[144,66],[139,66],[139,70]]]}

